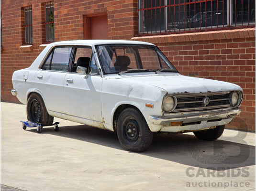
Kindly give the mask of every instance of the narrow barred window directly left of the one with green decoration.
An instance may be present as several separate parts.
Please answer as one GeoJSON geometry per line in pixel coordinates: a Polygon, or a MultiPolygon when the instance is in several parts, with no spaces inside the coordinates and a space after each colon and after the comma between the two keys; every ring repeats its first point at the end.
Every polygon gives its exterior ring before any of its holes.
{"type": "Polygon", "coordinates": [[[33,44],[32,7],[24,8],[25,44],[33,44]]]}

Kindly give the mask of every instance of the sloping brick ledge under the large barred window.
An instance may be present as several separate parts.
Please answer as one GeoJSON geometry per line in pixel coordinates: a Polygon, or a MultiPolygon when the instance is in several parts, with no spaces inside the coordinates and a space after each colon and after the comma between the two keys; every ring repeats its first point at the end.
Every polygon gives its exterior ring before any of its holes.
{"type": "Polygon", "coordinates": [[[208,41],[220,39],[236,39],[236,38],[255,38],[255,28],[233,29],[222,31],[208,32],[191,32],[180,34],[167,34],[156,36],[140,36],[134,37],[133,41],[144,41],[151,43],[167,43],[167,42],[191,42],[191,41],[208,41]]]}

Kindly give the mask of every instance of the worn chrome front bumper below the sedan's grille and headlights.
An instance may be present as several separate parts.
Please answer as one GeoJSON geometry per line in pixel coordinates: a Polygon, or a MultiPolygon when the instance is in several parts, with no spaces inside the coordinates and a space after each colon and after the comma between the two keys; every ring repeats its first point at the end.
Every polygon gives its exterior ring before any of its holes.
{"type": "Polygon", "coordinates": [[[173,115],[164,117],[150,116],[149,121],[154,125],[170,126],[171,122],[178,121],[182,121],[183,123],[192,123],[196,121],[234,118],[234,116],[240,114],[241,111],[241,108],[227,108],[222,110],[218,109],[211,111],[174,113],[173,115]]]}

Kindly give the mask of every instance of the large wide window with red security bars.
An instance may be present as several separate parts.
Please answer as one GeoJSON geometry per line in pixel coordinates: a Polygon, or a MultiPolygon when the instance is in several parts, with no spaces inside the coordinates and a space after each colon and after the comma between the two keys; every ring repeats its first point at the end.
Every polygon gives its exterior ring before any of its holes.
{"type": "Polygon", "coordinates": [[[139,0],[139,34],[255,27],[255,0],[139,0]]]}

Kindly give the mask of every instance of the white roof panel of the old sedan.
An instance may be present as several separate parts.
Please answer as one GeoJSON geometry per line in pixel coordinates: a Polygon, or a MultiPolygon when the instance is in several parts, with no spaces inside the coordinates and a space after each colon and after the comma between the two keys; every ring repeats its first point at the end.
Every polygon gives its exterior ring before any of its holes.
{"type": "Polygon", "coordinates": [[[58,46],[58,45],[100,45],[100,44],[141,44],[141,45],[154,45],[148,42],[140,42],[140,41],[125,41],[125,40],[76,40],[76,41],[61,41],[61,42],[53,42],[48,46],[58,46]]]}

